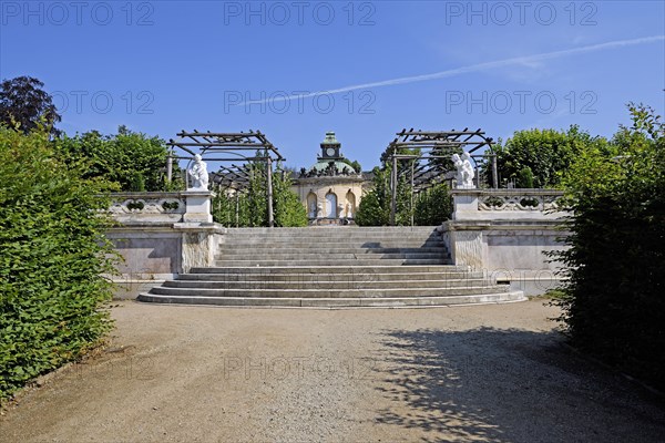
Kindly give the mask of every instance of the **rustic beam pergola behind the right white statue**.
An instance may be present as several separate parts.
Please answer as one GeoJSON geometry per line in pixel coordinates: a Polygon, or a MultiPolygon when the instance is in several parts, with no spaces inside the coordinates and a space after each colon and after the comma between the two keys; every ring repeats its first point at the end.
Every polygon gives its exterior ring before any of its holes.
{"type": "MultiPolygon", "coordinates": [[[[442,167],[443,159],[450,159],[451,153],[468,152],[475,162],[477,181],[479,181],[478,164],[480,161],[490,159],[492,164],[492,187],[499,187],[497,173],[497,155],[492,147],[493,140],[485,136],[480,128],[469,131],[415,131],[406,130],[396,134],[397,136],[388,144],[383,161],[392,163],[390,175],[390,224],[395,226],[397,210],[397,186],[399,177],[410,172],[411,181],[411,205],[413,193],[420,193],[447,179],[450,169],[442,167]],[[473,154],[482,147],[489,153],[473,154]],[[398,162],[410,161],[410,168],[398,171],[398,162]],[[421,163],[421,161],[424,161],[421,163]]],[[[477,182],[479,183],[479,182],[477,182]]],[[[412,223],[412,220],[411,220],[412,223]]]]}

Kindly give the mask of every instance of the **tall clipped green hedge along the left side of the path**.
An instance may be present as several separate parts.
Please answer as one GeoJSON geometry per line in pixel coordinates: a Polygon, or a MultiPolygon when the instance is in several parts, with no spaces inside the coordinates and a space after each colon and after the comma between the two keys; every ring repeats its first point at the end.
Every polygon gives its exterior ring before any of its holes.
{"type": "Polygon", "coordinates": [[[108,186],[59,154],[45,130],[0,126],[0,399],[111,328],[108,186]]]}

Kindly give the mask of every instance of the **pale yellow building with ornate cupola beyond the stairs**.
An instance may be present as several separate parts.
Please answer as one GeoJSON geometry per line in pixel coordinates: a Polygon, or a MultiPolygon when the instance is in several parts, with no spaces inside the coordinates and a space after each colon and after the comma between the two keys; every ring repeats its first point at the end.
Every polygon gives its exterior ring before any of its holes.
{"type": "Polygon", "coordinates": [[[307,208],[310,224],[352,223],[362,193],[370,185],[370,173],[356,171],[345,162],[334,132],[326,133],[320,150],[317,162],[294,177],[293,190],[307,208]]]}

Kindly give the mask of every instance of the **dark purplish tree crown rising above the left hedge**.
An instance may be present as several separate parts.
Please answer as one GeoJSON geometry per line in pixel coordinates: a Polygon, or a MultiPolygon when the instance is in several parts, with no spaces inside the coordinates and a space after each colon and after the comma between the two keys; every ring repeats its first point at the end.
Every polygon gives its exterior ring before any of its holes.
{"type": "Polygon", "coordinates": [[[44,84],[32,76],[18,76],[0,83],[0,123],[8,127],[19,125],[28,134],[40,123],[45,123],[51,134],[60,132],[53,126],[62,117],[58,114],[51,95],[42,90],[44,84]]]}

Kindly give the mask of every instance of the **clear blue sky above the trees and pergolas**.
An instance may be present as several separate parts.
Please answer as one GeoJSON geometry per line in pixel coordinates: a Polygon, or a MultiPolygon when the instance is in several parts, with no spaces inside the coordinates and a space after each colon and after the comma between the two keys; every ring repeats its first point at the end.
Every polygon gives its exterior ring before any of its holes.
{"type": "Polygon", "coordinates": [[[260,130],[297,167],[326,131],[368,169],[402,127],[665,111],[663,1],[1,1],[0,27],[0,78],[43,81],[69,134],[260,130]]]}

